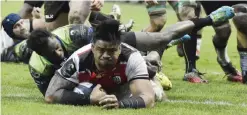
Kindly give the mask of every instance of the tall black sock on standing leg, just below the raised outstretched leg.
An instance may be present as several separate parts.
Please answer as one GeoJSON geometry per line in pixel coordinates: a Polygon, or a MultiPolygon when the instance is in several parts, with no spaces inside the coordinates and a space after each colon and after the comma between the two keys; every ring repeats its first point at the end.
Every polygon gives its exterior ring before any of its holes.
{"type": "Polygon", "coordinates": [[[196,68],[196,32],[190,34],[191,40],[183,44],[184,59],[186,65],[185,73],[191,72],[196,68]]]}

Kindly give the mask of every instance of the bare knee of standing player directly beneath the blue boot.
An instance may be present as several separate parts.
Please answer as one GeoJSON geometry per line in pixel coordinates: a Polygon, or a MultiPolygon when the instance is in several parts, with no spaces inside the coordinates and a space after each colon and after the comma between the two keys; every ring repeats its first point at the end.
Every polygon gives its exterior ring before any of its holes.
{"type": "Polygon", "coordinates": [[[231,26],[229,23],[225,23],[221,26],[214,27],[215,33],[219,38],[228,39],[231,35],[231,26]]]}

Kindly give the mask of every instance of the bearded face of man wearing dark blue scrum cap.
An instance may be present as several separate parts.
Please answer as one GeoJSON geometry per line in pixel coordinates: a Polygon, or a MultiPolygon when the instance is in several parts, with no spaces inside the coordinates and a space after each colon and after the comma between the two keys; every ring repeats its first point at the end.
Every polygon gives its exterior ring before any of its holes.
{"type": "Polygon", "coordinates": [[[30,24],[26,19],[20,19],[13,27],[13,32],[18,37],[27,38],[30,34],[30,24]]]}

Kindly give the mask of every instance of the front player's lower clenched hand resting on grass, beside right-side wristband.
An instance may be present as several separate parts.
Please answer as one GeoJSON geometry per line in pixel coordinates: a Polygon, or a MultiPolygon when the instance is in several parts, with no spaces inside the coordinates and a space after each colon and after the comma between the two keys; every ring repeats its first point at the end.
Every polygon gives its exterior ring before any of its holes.
{"type": "Polygon", "coordinates": [[[118,108],[118,100],[115,95],[105,95],[100,98],[99,104],[103,107],[103,109],[114,109],[118,108]]]}

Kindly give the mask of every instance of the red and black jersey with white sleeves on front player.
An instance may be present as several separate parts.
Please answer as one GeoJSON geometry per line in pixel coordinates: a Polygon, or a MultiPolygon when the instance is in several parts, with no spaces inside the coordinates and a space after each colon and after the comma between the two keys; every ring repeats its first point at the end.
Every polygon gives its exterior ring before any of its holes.
{"type": "Polygon", "coordinates": [[[149,79],[143,57],[127,44],[121,44],[118,63],[112,70],[97,72],[91,44],[89,44],[77,50],[57,72],[75,83],[101,84],[105,90],[113,90],[134,79],[149,79]]]}

